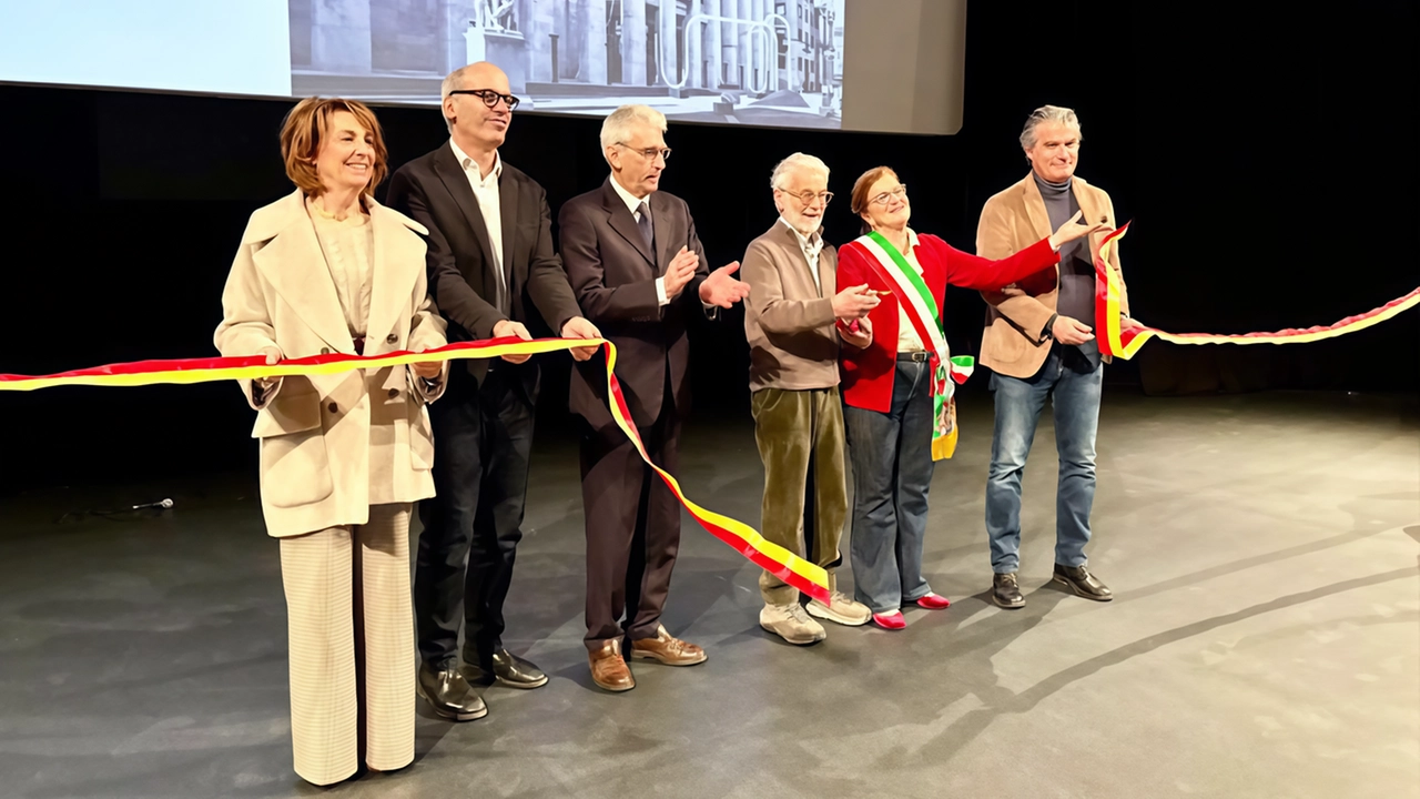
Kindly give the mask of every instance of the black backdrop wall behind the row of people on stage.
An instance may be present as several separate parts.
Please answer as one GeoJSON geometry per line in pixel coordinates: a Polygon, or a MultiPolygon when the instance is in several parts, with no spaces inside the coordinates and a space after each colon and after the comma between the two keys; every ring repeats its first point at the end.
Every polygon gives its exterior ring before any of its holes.
{"type": "MultiPolygon", "coordinates": [[[[782,155],[802,149],[834,168],[832,242],[858,232],[853,178],[889,163],[909,183],[914,226],[970,250],[981,203],[1027,172],[1021,121],[1056,102],[1085,125],[1079,173],[1136,220],[1123,256],[1139,318],[1179,331],[1331,323],[1420,284],[1420,175],[1403,155],[1409,121],[1393,111],[1416,94],[1411,4],[1284,20],[1145,14],[1125,3],[973,3],[958,135],[677,125],[665,189],[690,202],[719,266],[774,222],[768,173],[782,155]]],[[[10,195],[0,371],[212,354],[246,219],[288,191],[277,152],[287,107],[0,87],[10,195]]],[[[436,111],[378,112],[396,163],[446,138],[436,111]]],[[[596,131],[595,119],[520,117],[504,156],[555,206],[604,179],[596,131]]],[[[983,306],[968,291],[949,297],[949,340],[974,353],[983,306]]],[[[701,418],[747,415],[741,318],[696,331],[701,418]]],[[[1413,392],[1417,341],[1411,313],[1305,347],[1149,344],[1108,374],[1116,391],[1150,394],[1413,392]]],[[[565,385],[565,360],[554,358],[541,435],[567,429],[565,385]]],[[[254,468],[251,414],[231,385],[0,394],[0,490],[254,468]]]]}

